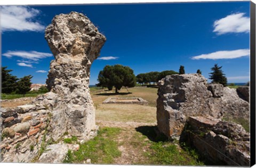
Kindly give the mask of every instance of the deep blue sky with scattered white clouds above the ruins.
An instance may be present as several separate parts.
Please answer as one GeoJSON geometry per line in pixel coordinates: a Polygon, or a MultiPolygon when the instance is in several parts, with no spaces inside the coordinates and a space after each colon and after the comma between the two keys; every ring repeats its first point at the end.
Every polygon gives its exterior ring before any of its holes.
{"type": "Polygon", "coordinates": [[[107,37],[91,67],[90,84],[106,65],[129,66],[134,74],[201,69],[215,63],[229,83],[249,81],[250,2],[115,5],[1,6],[2,66],[18,77],[45,83],[54,59],[44,29],[54,15],[81,12],[107,37]]]}

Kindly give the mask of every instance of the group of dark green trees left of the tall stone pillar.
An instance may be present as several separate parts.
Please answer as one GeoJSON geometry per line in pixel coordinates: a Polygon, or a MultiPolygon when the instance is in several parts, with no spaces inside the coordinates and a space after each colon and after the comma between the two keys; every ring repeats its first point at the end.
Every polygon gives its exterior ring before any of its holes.
{"type": "MultiPolygon", "coordinates": [[[[17,76],[13,76],[10,74],[12,70],[7,69],[7,67],[1,67],[1,74],[2,74],[2,93],[10,94],[23,94],[25,97],[25,94],[30,91],[31,86],[31,78],[33,76],[27,75],[22,78],[18,78],[17,76]]],[[[41,86],[39,89],[39,92],[47,92],[47,89],[45,86],[41,86]]]]}

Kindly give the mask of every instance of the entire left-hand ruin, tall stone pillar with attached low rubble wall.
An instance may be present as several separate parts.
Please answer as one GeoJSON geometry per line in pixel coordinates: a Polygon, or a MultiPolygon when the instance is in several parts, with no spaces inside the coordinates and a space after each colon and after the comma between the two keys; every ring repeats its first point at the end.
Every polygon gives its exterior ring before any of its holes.
{"type": "Polygon", "coordinates": [[[32,105],[1,108],[1,162],[61,163],[68,149],[77,150],[58,143],[63,136],[83,142],[97,134],[90,67],[106,37],[85,15],[71,12],[55,16],[45,38],[55,58],[46,81],[50,92],[32,105]],[[50,153],[42,153],[46,146],[50,153]]]}

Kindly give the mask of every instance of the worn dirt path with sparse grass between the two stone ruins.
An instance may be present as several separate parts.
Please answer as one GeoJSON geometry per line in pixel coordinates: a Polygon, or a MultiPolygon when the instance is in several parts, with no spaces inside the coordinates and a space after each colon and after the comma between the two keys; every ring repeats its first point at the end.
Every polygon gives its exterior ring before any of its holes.
{"type": "Polygon", "coordinates": [[[115,158],[114,164],[145,164],[149,149],[149,139],[136,131],[139,126],[153,126],[156,123],[97,121],[100,127],[119,127],[121,132],[113,139],[118,142],[118,150],[122,152],[115,158]]]}

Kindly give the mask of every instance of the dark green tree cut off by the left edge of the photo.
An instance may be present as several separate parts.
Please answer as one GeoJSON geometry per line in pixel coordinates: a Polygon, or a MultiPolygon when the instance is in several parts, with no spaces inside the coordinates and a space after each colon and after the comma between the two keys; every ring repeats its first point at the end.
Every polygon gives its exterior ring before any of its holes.
{"type": "Polygon", "coordinates": [[[2,67],[2,93],[12,93],[17,89],[18,78],[10,74],[11,69],[2,67]]]}

